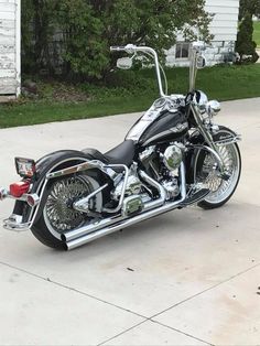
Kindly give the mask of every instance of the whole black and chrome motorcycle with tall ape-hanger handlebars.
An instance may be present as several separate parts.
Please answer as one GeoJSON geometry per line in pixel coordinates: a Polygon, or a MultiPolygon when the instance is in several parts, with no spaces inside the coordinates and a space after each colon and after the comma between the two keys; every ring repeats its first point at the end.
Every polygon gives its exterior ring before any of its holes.
{"type": "Polygon", "coordinates": [[[36,162],[15,158],[22,180],[0,190],[0,199],[15,199],[3,226],[31,229],[44,245],[71,250],[175,208],[224,205],[239,182],[240,137],[213,123],[219,102],[195,89],[196,72],[205,65],[203,47],[192,44],[185,96],[164,94],[153,48],[111,47],[132,55],[118,60],[120,68],[129,68],[140,53],[152,56],[161,97],[105,154],[86,149],[56,151],[36,162]]]}

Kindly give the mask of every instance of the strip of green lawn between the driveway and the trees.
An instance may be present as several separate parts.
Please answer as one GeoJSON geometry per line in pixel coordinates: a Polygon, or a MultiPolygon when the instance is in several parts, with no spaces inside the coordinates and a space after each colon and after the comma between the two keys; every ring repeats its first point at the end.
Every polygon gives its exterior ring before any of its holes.
{"type": "MultiPolygon", "coordinates": [[[[78,93],[86,93],[89,96],[84,101],[57,101],[52,96],[53,87],[43,84],[47,95],[43,93],[44,95],[35,100],[23,99],[0,106],[0,128],[142,111],[158,97],[154,72],[143,69],[139,73],[127,73],[132,79],[127,80],[127,74],[119,73],[118,79],[111,83],[110,88],[77,86],[76,91],[78,89],[78,93]],[[128,87],[131,80],[136,85],[133,88],[128,87]],[[115,87],[117,82],[121,84],[118,88],[115,87]]],[[[166,75],[169,93],[187,91],[187,68],[171,68],[166,71],[166,75]]],[[[210,99],[218,100],[260,97],[260,64],[205,68],[198,72],[197,88],[204,90],[210,99]]]]}

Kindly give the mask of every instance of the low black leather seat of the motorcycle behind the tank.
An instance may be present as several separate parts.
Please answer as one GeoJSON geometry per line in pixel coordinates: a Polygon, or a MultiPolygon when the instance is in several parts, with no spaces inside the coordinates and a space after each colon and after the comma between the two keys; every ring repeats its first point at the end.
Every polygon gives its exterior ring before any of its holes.
{"type": "Polygon", "coordinates": [[[97,149],[84,149],[83,152],[91,160],[100,160],[107,164],[126,164],[130,166],[134,156],[134,143],[127,140],[102,154],[97,149]]]}

